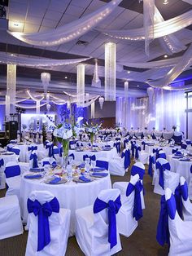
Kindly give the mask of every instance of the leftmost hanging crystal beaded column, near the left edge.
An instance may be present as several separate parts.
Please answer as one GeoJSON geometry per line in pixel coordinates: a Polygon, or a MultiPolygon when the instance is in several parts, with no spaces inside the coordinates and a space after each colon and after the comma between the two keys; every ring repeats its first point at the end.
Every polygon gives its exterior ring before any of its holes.
{"type": "Polygon", "coordinates": [[[9,96],[10,111],[15,110],[15,95],[16,95],[16,65],[7,64],[7,96],[9,96]]]}

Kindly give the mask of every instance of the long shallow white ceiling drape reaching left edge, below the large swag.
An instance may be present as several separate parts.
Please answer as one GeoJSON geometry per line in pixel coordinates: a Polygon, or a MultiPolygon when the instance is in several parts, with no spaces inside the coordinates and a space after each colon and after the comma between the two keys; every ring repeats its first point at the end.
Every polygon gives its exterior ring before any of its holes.
{"type": "Polygon", "coordinates": [[[6,52],[0,52],[0,63],[2,64],[16,64],[18,66],[25,67],[53,67],[53,66],[63,66],[69,64],[79,63],[90,58],[81,59],[70,59],[70,60],[54,60],[47,58],[34,58],[32,56],[24,57],[22,55],[13,55],[6,52]]]}

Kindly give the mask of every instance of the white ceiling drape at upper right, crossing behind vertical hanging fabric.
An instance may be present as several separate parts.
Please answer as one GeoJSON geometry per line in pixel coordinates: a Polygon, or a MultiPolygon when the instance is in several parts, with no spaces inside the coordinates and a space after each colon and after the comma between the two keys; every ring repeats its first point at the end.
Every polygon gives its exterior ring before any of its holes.
{"type": "MultiPolygon", "coordinates": [[[[162,38],[168,36],[169,34],[185,29],[186,27],[192,24],[192,10],[187,11],[182,15],[178,15],[175,18],[170,20],[165,20],[161,23],[154,25],[154,38],[162,38]]],[[[153,29],[151,27],[151,29],[153,29]]],[[[98,29],[98,31],[111,36],[112,38],[124,39],[124,40],[133,40],[141,41],[145,40],[145,30],[144,28],[140,29],[129,29],[129,30],[106,30],[98,29]]]]}

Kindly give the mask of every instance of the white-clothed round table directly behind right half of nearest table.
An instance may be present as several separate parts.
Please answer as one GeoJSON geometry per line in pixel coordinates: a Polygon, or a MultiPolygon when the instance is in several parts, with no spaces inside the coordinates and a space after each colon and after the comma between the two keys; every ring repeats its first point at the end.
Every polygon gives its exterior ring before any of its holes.
{"type": "Polygon", "coordinates": [[[110,159],[117,157],[117,152],[116,152],[116,148],[112,148],[109,151],[104,151],[104,150],[100,150],[100,151],[76,151],[76,150],[69,150],[68,154],[74,154],[75,156],[75,161],[83,161],[83,156],[84,155],[88,155],[88,156],[93,156],[95,155],[96,160],[100,159],[100,158],[105,158],[106,161],[109,161],[110,159]]]}

